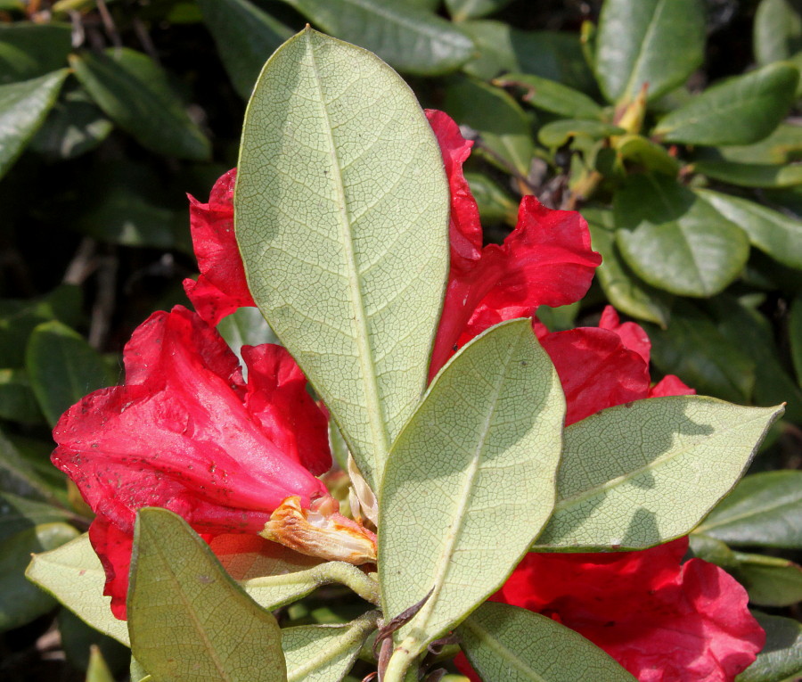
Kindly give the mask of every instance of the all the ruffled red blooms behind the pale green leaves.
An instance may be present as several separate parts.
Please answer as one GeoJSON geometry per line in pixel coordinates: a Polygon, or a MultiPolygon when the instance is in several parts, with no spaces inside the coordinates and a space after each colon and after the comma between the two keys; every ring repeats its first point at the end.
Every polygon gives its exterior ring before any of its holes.
{"type": "MultiPolygon", "coordinates": [[[[452,202],[451,270],[430,375],[488,327],[528,316],[560,376],[569,424],[631,400],[692,393],[673,376],[651,384],[648,337],[634,323],[621,324],[612,308],[598,327],[567,332],[550,333],[536,320],[539,306],[567,305],[590,286],[601,258],[585,221],[525,197],[503,244],[483,246],[462,175],[471,143],[446,114],[427,113],[452,202]]],[[[233,235],[234,177],[233,170],[221,177],[207,204],[191,198],[201,276],[184,288],[197,313],[179,307],[151,316],[125,349],[126,384],[87,396],[55,430],[53,462],[97,514],[90,538],[119,617],[138,508],[167,507],[207,538],[264,534],[280,509],[335,508],[313,475],[331,464],[326,415],[299,367],[280,347],[246,347],[246,382],[214,329],[254,305],[233,235]]],[[[338,528],[372,540],[336,511],[330,515],[338,528]]],[[[681,538],[642,552],[532,553],[493,598],[576,629],[642,682],[732,680],[765,635],[743,588],[712,564],[683,563],[686,546],[681,538]]],[[[457,662],[476,678],[463,657],[457,662]]]]}

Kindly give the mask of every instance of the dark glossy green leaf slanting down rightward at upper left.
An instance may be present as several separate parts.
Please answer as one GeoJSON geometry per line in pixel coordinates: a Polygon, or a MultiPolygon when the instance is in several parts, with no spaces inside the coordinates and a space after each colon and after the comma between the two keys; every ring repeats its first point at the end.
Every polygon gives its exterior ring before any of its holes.
{"type": "Polygon", "coordinates": [[[209,140],[149,56],[123,47],[71,55],[70,65],[106,115],[143,147],[179,159],[209,160],[209,140]]]}

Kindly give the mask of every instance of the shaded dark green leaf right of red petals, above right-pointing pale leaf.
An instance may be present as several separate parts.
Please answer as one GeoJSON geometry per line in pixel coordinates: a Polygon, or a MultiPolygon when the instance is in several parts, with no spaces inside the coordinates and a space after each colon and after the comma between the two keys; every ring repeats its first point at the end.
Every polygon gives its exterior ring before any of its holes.
{"type": "Polygon", "coordinates": [[[755,385],[755,362],[690,303],[677,300],[667,330],[647,328],[651,361],[664,374],[678,374],[703,395],[749,402],[755,385]]]}

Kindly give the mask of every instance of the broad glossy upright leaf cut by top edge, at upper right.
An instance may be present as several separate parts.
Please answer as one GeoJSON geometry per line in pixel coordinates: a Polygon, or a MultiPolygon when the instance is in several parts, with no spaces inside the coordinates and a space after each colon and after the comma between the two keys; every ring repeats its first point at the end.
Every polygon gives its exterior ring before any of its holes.
{"type": "Polygon", "coordinates": [[[607,0],[596,35],[596,78],[610,102],[628,102],[648,86],[651,100],[699,67],[705,50],[700,0],[607,0]]]}

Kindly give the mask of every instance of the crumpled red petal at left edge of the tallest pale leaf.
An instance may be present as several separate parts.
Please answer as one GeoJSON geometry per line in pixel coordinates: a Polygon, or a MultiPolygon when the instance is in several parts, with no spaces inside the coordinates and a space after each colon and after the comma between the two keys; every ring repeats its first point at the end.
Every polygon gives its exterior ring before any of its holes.
{"type": "Polygon", "coordinates": [[[245,281],[240,251],[233,230],[233,187],[236,169],[220,177],[209,203],[190,200],[192,246],[201,276],[184,280],[184,291],[198,314],[217,323],[237,308],[255,306],[245,281]]]}

